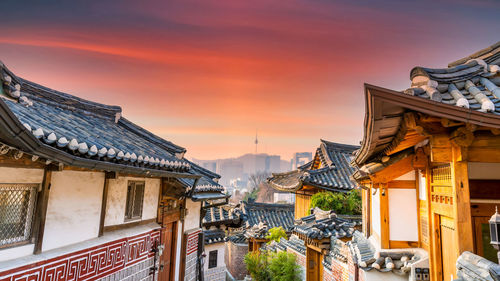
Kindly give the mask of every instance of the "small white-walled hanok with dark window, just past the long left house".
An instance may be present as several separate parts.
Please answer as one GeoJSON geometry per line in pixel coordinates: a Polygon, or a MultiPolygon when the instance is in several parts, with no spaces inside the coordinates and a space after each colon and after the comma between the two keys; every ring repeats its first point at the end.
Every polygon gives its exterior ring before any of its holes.
{"type": "Polygon", "coordinates": [[[241,211],[230,205],[204,206],[205,280],[226,280],[225,250],[230,227],[241,227],[241,211]],[[208,207],[206,207],[208,206],[208,207]]]}

